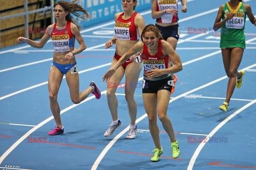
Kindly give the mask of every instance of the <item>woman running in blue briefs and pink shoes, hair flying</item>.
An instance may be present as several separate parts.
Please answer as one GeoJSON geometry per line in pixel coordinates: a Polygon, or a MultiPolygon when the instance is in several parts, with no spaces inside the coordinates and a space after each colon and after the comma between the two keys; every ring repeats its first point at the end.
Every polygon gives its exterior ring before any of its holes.
{"type": "Polygon", "coordinates": [[[92,81],[89,88],[79,93],[79,76],[76,65],[75,54],[79,54],[86,49],[83,37],[79,32],[79,28],[76,25],[75,19],[70,13],[78,16],[81,19],[87,20],[90,15],[78,5],[79,0],[71,2],[59,1],[54,4],[54,15],[57,20],[56,23],[47,27],[44,36],[40,41],[33,41],[28,38],[19,37],[17,41],[19,43],[27,43],[31,47],[42,48],[49,38],[52,38],[54,46],[53,62],[49,74],[48,88],[50,107],[57,124],[57,127],[50,131],[49,135],[62,134],[64,127],[60,118],[60,106],[57,101],[58,91],[60,88],[63,74],[66,74],[66,80],[69,87],[70,98],[73,103],[81,103],[90,93],[93,93],[97,99],[100,98],[100,90],[96,84],[92,81]],[[77,13],[77,12],[82,12],[77,13]],[[75,38],[79,43],[79,47],[74,49],[75,38]]]}

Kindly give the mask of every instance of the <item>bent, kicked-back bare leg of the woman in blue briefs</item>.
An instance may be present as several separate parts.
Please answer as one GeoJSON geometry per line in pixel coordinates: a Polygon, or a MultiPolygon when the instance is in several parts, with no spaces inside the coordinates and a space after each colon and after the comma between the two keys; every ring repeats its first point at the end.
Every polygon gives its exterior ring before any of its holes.
{"type": "Polygon", "coordinates": [[[72,72],[71,69],[66,73],[66,80],[69,87],[69,93],[71,101],[74,104],[79,104],[81,101],[87,98],[93,91],[94,88],[88,87],[79,93],[79,75],[78,72],[72,72]]]}

